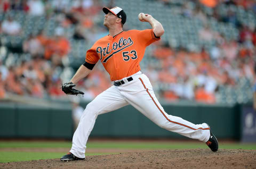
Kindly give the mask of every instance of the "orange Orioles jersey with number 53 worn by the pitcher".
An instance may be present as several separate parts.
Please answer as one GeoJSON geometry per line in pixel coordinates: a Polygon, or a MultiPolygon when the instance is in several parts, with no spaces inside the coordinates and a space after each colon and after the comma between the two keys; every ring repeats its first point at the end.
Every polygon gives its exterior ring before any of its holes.
{"type": "Polygon", "coordinates": [[[85,62],[95,64],[101,60],[110,80],[120,80],[140,71],[146,47],[156,38],[153,29],[123,31],[118,35],[105,36],[87,50],[85,62]]]}

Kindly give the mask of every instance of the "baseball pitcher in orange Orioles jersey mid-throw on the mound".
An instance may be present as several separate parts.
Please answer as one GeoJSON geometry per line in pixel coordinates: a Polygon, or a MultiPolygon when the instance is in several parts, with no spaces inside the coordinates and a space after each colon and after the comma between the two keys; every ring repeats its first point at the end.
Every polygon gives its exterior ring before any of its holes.
{"type": "Polygon", "coordinates": [[[143,115],[161,128],[177,132],[183,136],[204,141],[212,151],[218,150],[218,141],[206,123],[193,124],[177,116],[167,114],[158,102],[148,77],[140,71],[140,61],[145,49],[159,40],[164,33],[162,24],[150,14],[139,14],[141,22],[148,22],[151,29],[123,31],[126,14],[120,7],[108,9],[105,13],[104,26],[109,30],[105,36],[89,49],[82,64],[70,82],[62,86],[66,94],[73,92],[74,84],[88,75],[100,60],[110,75],[113,86],[103,91],[89,103],[81,117],[73,136],[73,144],[68,154],[61,161],[85,158],[87,139],[93,129],[97,116],[131,104],[143,115]]]}

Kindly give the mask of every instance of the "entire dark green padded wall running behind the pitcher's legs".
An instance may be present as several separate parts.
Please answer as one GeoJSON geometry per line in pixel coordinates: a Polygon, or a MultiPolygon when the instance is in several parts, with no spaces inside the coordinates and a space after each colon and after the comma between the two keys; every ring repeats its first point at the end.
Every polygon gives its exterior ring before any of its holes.
{"type": "MultiPolygon", "coordinates": [[[[86,107],[87,103],[82,103],[86,107]]],[[[223,139],[241,139],[242,105],[163,104],[168,114],[193,123],[206,122],[223,139]]],[[[73,136],[71,105],[39,107],[0,104],[1,138],[65,138],[73,136]]],[[[159,128],[132,106],[99,115],[91,137],[184,138],[159,128]]]]}

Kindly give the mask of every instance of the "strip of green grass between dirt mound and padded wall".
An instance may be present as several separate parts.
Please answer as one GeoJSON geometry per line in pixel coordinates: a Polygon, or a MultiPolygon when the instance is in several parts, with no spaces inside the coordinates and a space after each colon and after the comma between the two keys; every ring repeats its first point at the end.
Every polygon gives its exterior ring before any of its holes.
{"type": "MultiPolygon", "coordinates": [[[[29,152],[29,151],[6,151],[7,149],[36,149],[36,148],[70,148],[71,141],[0,141],[0,163],[19,162],[26,160],[60,158],[67,152],[29,152]]],[[[178,141],[89,141],[87,149],[99,149],[99,153],[86,153],[90,155],[102,155],[100,149],[194,149],[207,148],[201,142],[178,142],[178,141]]],[[[256,143],[219,142],[220,149],[256,149],[256,143]]],[[[115,153],[107,153],[115,154],[115,153]]]]}

